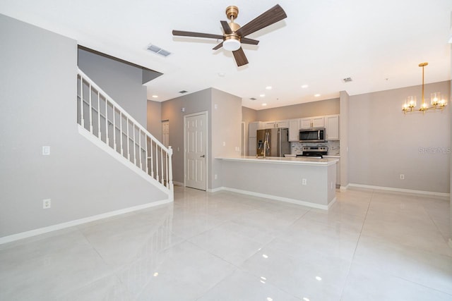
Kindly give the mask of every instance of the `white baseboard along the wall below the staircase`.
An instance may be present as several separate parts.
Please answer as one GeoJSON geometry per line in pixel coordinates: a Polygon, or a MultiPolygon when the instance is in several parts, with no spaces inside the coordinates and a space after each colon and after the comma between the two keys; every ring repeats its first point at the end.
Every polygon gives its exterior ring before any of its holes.
{"type": "Polygon", "coordinates": [[[57,231],[57,230],[61,230],[64,228],[69,228],[69,227],[73,227],[73,226],[78,226],[81,225],[82,223],[90,223],[91,221],[97,221],[100,219],[106,219],[107,217],[112,217],[112,216],[117,216],[120,214],[125,214],[125,213],[129,213],[132,211],[137,211],[137,210],[141,210],[141,209],[145,209],[145,208],[149,208],[149,207],[154,207],[154,206],[159,206],[162,204],[168,204],[171,203],[172,200],[171,199],[162,199],[161,201],[157,201],[157,202],[152,202],[152,203],[148,203],[148,204],[142,204],[142,205],[138,205],[138,206],[134,206],[134,207],[129,207],[129,208],[124,208],[124,209],[119,209],[119,210],[115,210],[115,211],[110,211],[104,214],[97,214],[95,216],[88,216],[85,217],[83,219],[76,219],[74,221],[67,221],[66,223],[59,223],[57,225],[52,225],[52,226],[47,226],[47,227],[43,227],[43,228],[38,228],[35,230],[31,230],[31,231],[26,231],[26,232],[22,232],[22,233],[17,233],[17,234],[13,234],[13,235],[8,235],[8,236],[4,236],[3,238],[0,238],[0,245],[4,244],[6,242],[13,242],[15,240],[21,240],[23,238],[30,238],[32,236],[36,236],[36,235],[40,235],[40,234],[44,234],[44,233],[49,233],[52,231],[57,231]]]}

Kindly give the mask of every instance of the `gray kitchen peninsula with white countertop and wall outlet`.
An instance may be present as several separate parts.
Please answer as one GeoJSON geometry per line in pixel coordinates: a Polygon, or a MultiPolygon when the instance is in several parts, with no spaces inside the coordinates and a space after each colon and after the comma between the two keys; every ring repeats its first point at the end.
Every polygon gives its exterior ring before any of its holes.
{"type": "Polygon", "coordinates": [[[337,159],[234,156],[221,160],[222,189],[328,209],[335,202],[337,159]]]}

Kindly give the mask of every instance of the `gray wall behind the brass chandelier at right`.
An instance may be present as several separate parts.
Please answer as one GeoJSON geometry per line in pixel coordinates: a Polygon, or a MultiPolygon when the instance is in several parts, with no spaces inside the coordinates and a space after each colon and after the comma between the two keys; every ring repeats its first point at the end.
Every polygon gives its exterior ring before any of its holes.
{"type": "MultiPolygon", "coordinates": [[[[425,91],[428,101],[431,92],[449,96],[451,82],[425,85],[425,91]]],[[[350,183],[450,191],[450,104],[442,112],[405,116],[403,100],[410,95],[420,98],[420,92],[419,85],[350,96],[350,183]]]]}

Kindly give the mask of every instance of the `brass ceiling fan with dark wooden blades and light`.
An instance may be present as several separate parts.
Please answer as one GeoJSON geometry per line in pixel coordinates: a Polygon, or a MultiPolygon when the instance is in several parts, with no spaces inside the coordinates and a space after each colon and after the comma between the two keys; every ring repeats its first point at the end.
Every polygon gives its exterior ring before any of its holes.
{"type": "Polygon", "coordinates": [[[240,27],[240,25],[234,23],[234,19],[237,18],[238,14],[239,8],[237,8],[237,6],[227,6],[226,16],[229,20],[231,20],[231,22],[227,23],[227,21],[220,21],[221,26],[224,30],[223,35],[212,35],[208,33],[189,32],[182,30],[173,30],[172,35],[182,37],[208,37],[210,39],[222,39],[222,42],[213,47],[213,50],[217,50],[223,47],[226,50],[232,51],[237,66],[243,66],[248,63],[248,60],[246,59],[241,44],[257,45],[259,43],[259,41],[257,41],[256,39],[247,38],[246,35],[250,35],[251,33],[261,30],[264,27],[283,20],[284,18],[287,18],[287,15],[285,14],[285,11],[283,10],[283,8],[281,8],[281,6],[276,4],[265,13],[262,13],[260,16],[254,18],[249,23],[246,23],[245,25],[240,27]]]}

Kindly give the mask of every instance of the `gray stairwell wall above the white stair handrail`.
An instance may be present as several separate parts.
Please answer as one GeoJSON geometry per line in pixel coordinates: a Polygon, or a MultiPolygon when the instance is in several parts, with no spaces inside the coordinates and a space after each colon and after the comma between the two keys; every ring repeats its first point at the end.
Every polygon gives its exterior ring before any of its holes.
{"type": "Polygon", "coordinates": [[[85,49],[78,49],[78,68],[146,128],[147,95],[141,83],[142,68],[85,49]]]}

